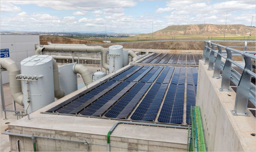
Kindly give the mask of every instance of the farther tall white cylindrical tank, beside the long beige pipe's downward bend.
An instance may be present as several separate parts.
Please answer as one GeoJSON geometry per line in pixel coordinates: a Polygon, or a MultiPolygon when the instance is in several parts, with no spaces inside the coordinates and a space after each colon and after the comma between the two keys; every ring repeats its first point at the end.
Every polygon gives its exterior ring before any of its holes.
{"type": "Polygon", "coordinates": [[[123,46],[112,45],[109,47],[109,72],[115,72],[123,67],[123,46]],[[115,62],[115,63],[114,63],[115,62]]]}

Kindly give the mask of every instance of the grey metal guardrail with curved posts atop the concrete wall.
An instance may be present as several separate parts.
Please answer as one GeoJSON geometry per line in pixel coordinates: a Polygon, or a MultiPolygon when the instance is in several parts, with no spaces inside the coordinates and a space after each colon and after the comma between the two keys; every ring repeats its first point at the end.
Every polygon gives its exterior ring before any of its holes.
{"type": "MultiPolygon", "coordinates": [[[[230,91],[230,80],[237,86],[236,101],[234,110],[231,110],[233,115],[249,116],[247,113],[247,104],[250,100],[255,105],[255,85],[251,83],[251,78],[256,78],[256,74],[252,72],[252,59],[256,60],[255,56],[246,51],[239,51],[231,47],[226,47],[216,44],[211,41],[204,41],[203,60],[206,65],[209,65],[208,70],[213,70],[213,78],[220,79],[220,71],[222,71],[220,91],[230,91]],[[215,47],[218,49],[215,50],[215,47]],[[222,49],[227,52],[227,57],[222,54],[222,49]],[[232,60],[232,52],[240,54],[244,58],[245,66],[238,64],[232,60]],[[215,56],[215,54],[217,54],[215,56]],[[225,63],[222,57],[226,59],[225,63]],[[240,74],[232,68],[232,64],[243,70],[240,74]]],[[[246,43],[246,42],[245,42],[246,43]]]]}

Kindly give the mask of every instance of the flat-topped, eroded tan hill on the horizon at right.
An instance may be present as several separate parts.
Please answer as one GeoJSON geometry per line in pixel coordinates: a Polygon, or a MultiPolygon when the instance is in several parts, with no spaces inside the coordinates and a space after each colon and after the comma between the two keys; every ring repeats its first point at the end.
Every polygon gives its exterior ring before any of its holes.
{"type": "MultiPolygon", "coordinates": [[[[250,34],[251,27],[245,25],[227,25],[226,35],[246,36],[250,34]]],[[[223,36],[225,25],[199,24],[199,25],[170,25],[153,33],[154,36],[174,35],[205,35],[223,36]]],[[[151,33],[152,34],[152,33],[151,33]]],[[[151,36],[151,34],[140,34],[138,36],[151,36]]],[[[255,35],[255,27],[252,27],[252,35],[255,35]]]]}

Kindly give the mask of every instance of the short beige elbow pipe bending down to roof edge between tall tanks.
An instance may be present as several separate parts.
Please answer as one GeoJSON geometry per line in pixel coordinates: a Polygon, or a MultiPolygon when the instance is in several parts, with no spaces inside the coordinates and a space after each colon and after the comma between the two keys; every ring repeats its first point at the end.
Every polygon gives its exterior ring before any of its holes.
{"type": "Polygon", "coordinates": [[[93,82],[89,70],[83,65],[75,64],[73,66],[73,72],[81,74],[85,86],[93,82]]]}

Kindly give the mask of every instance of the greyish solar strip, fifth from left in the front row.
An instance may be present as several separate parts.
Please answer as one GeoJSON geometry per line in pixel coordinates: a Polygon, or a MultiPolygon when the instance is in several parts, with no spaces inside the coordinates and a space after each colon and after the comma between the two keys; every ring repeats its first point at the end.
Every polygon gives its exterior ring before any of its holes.
{"type": "Polygon", "coordinates": [[[94,112],[92,116],[101,116],[108,108],[110,108],[118,99],[120,99],[127,91],[134,86],[136,82],[131,82],[127,85],[123,90],[121,90],[118,94],[116,94],[112,99],[110,99],[107,103],[100,107],[99,110],[94,112]]]}

